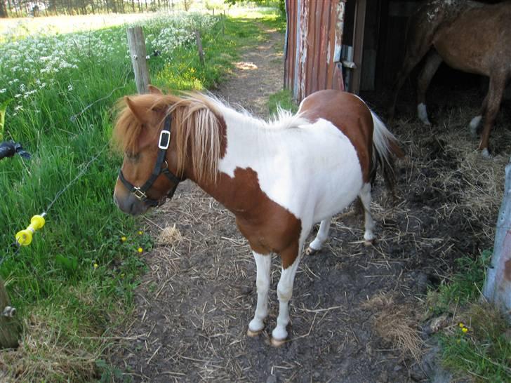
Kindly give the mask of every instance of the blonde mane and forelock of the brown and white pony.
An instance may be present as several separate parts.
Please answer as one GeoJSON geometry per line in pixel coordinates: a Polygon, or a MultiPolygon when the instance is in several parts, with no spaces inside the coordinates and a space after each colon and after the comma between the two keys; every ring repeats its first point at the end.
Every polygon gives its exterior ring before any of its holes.
{"type": "Polygon", "coordinates": [[[114,145],[117,149],[137,154],[142,132],[149,129],[152,130],[150,134],[157,137],[164,118],[170,114],[178,157],[176,173],[183,176],[185,168],[190,168],[197,182],[216,182],[225,129],[222,114],[218,111],[213,98],[201,93],[185,93],[184,97],[134,95],[130,100],[133,105],[145,110],[147,116],[158,114],[159,123],[156,126],[140,123],[126,104],[126,100],[120,100],[121,110],[113,132],[114,145]]]}

